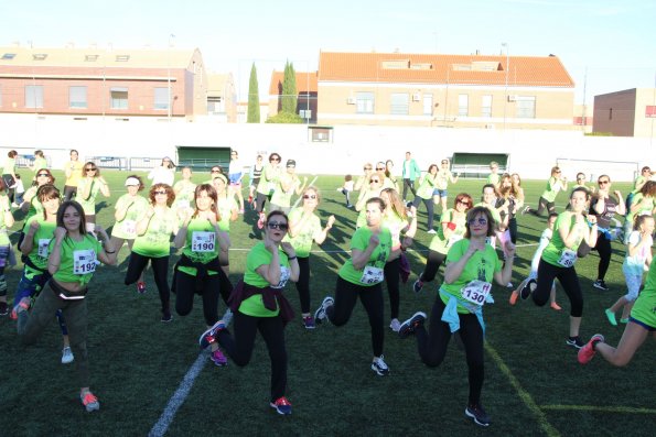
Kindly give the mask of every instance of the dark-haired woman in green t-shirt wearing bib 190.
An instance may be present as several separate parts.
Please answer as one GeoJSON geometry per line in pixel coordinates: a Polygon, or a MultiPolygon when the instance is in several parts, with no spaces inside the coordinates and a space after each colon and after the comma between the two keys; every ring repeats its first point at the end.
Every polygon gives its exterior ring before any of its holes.
{"type": "MultiPolygon", "coordinates": [[[[180,261],[173,267],[175,312],[186,316],[194,306],[194,294],[203,299],[203,315],[207,327],[218,320],[218,295],[226,306],[233,285],[221,266],[219,253],[227,253],[230,240],[219,226],[221,215],[216,208],[216,190],[209,184],[201,184],[194,192],[195,210],[186,212],[174,244],[182,250],[180,261]]],[[[227,360],[216,343],[212,345],[212,361],[216,365],[227,360]]]]}

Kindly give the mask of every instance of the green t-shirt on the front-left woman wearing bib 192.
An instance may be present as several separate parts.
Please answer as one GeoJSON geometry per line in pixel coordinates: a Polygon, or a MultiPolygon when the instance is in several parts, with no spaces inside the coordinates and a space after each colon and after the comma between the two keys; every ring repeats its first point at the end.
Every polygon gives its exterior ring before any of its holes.
{"type": "MultiPolygon", "coordinates": [[[[54,243],[55,240],[51,240],[50,253],[53,251],[54,243]]],[[[100,251],[100,242],[89,233],[83,236],[82,241],[74,241],[69,237],[64,238],[60,269],[53,277],[57,282],[78,282],[82,286],[88,284],[96,271],[100,251]]]]}

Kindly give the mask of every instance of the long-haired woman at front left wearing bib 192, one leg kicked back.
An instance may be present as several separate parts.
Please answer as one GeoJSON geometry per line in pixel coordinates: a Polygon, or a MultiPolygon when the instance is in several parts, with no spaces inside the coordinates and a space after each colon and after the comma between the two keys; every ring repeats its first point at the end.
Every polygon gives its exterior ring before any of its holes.
{"type": "Polygon", "coordinates": [[[47,271],[51,289],[39,295],[31,312],[30,298],[23,297],[18,313],[18,332],[25,345],[32,345],[47,327],[52,315],[61,309],[66,319],[71,349],[75,353],[79,379],[79,400],[87,412],[100,408],[98,398],[89,390],[87,359],[87,304],[88,283],[94,276],[98,261],[116,264],[116,251],[105,229],[95,227],[103,241],[87,233],[84,209],[76,201],[64,201],[57,210],[57,228],[50,242],[47,271]]]}

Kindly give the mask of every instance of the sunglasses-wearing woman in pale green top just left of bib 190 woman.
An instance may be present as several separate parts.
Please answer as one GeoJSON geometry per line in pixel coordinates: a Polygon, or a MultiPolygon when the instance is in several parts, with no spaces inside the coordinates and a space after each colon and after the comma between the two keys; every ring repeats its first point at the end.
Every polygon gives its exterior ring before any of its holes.
{"type": "MultiPolygon", "coordinates": [[[[171,234],[178,233],[178,215],[171,209],[175,194],[166,184],[154,184],[148,195],[150,207],[137,222],[137,238],[132,243],[130,263],[126,273],[126,285],[136,283],[143,271],[152,266],[152,275],[162,304],[162,321],[171,321],[169,287],[169,256],[171,254],[171,234]]],[[[137,291],[146,293],[146,283],[137,284],[137,291]]]]}

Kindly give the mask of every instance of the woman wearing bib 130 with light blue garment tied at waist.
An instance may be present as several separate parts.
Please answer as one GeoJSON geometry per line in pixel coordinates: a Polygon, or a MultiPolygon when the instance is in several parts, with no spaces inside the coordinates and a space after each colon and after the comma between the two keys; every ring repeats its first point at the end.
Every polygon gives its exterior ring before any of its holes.
{"type": "MultiPolygon", "coordinates": [[[[418,312],[404,321],[399,336],[412,334],[421,361],[428,367],[438,367],[444,360],[452,334],[460,334],[464,345],[469,369],[470,395],[465,415],[477,425],[490,425],[490,417],[481,404],[484,381],[485,324],[483,304],[488,302],[492,281],[505,286],[513,275],[513,259],[502,261],[486,242],[495,231],[494,218],[488,208],[477,206],[466,216],[464,238],[456,241],[447,255],[444,282],[431,310],[430,327],[423,327],[426,314],[418,312]]],[[[515,254],[515,244],[506,241],[505,252],[515,254]]]]}

